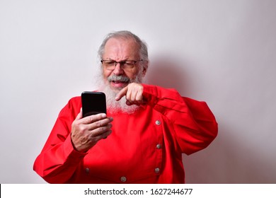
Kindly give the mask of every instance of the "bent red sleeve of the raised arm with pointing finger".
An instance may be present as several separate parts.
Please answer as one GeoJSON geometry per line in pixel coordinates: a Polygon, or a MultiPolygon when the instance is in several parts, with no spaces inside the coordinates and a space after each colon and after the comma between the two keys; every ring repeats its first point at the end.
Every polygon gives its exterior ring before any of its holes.
{"type": "Polygon", "coordinates": [[[206,148],[217,136],[218,124],[205,102],[181,97],[173,89],[145,85],[143,96],[155,110],[166,116],[183,153],[206,148]]]}

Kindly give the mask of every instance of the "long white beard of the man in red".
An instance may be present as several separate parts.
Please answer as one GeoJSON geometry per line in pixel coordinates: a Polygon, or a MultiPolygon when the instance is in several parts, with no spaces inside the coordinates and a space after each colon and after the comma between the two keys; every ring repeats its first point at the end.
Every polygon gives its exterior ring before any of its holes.
{"type": "MultiPolygon", "coordinates": [[[[130,83],[142,83],[142,74],[138,74],[136,78],[130,80],[130,83]]],[[[113,88],[111,88],[109,82],[105,82],[105,80],[103,79],[102,74],[98,76],[98,87],[98,91],[105,93],[107,109],[108,112],[110,112],[111,114],[120,112],[132,114],[139,110],[138,105],[127,105],[127,100],[125,99],[125,96],[122,97],[119,101],[116,101],[115,96],[117,95],[117,93],[120,92],[120,90],[114,90],[113,88]]]]}

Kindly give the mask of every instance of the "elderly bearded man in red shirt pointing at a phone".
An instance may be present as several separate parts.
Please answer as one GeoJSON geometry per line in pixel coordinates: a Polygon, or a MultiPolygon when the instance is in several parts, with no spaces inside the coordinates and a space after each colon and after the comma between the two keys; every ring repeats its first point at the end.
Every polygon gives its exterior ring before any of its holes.
{"type": "Polygon", "coordinates": [[[147,47],[129,31],[110,33],[98,54],[107,114],[82,117],[81,97],[71,98],[34,170],[50,183],[184,183],[182,153],[217,136],[209,107],[142,83],[147,47]]]}

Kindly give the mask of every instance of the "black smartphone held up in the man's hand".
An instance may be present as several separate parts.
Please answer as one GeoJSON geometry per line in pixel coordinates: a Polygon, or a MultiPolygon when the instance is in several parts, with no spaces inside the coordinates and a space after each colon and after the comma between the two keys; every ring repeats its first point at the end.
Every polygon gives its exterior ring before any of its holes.
{"type": "Polygon", "coordinates": [[[106,114],[105,93],[84,91],[81,93],[82,115],[96,115],[98,113],[106,114]]]}

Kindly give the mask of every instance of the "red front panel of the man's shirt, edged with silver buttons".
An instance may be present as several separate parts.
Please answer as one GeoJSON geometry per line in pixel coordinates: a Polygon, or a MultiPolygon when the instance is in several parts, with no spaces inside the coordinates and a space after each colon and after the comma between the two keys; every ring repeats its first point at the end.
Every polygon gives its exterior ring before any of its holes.
{"type": "Polygon", "coordinates": [[[152,110],[113,115],[112,134],[100,140],[84,158],[87,177],[135,182],[158,177],[162,170],[163,117],[152,110]]]}

